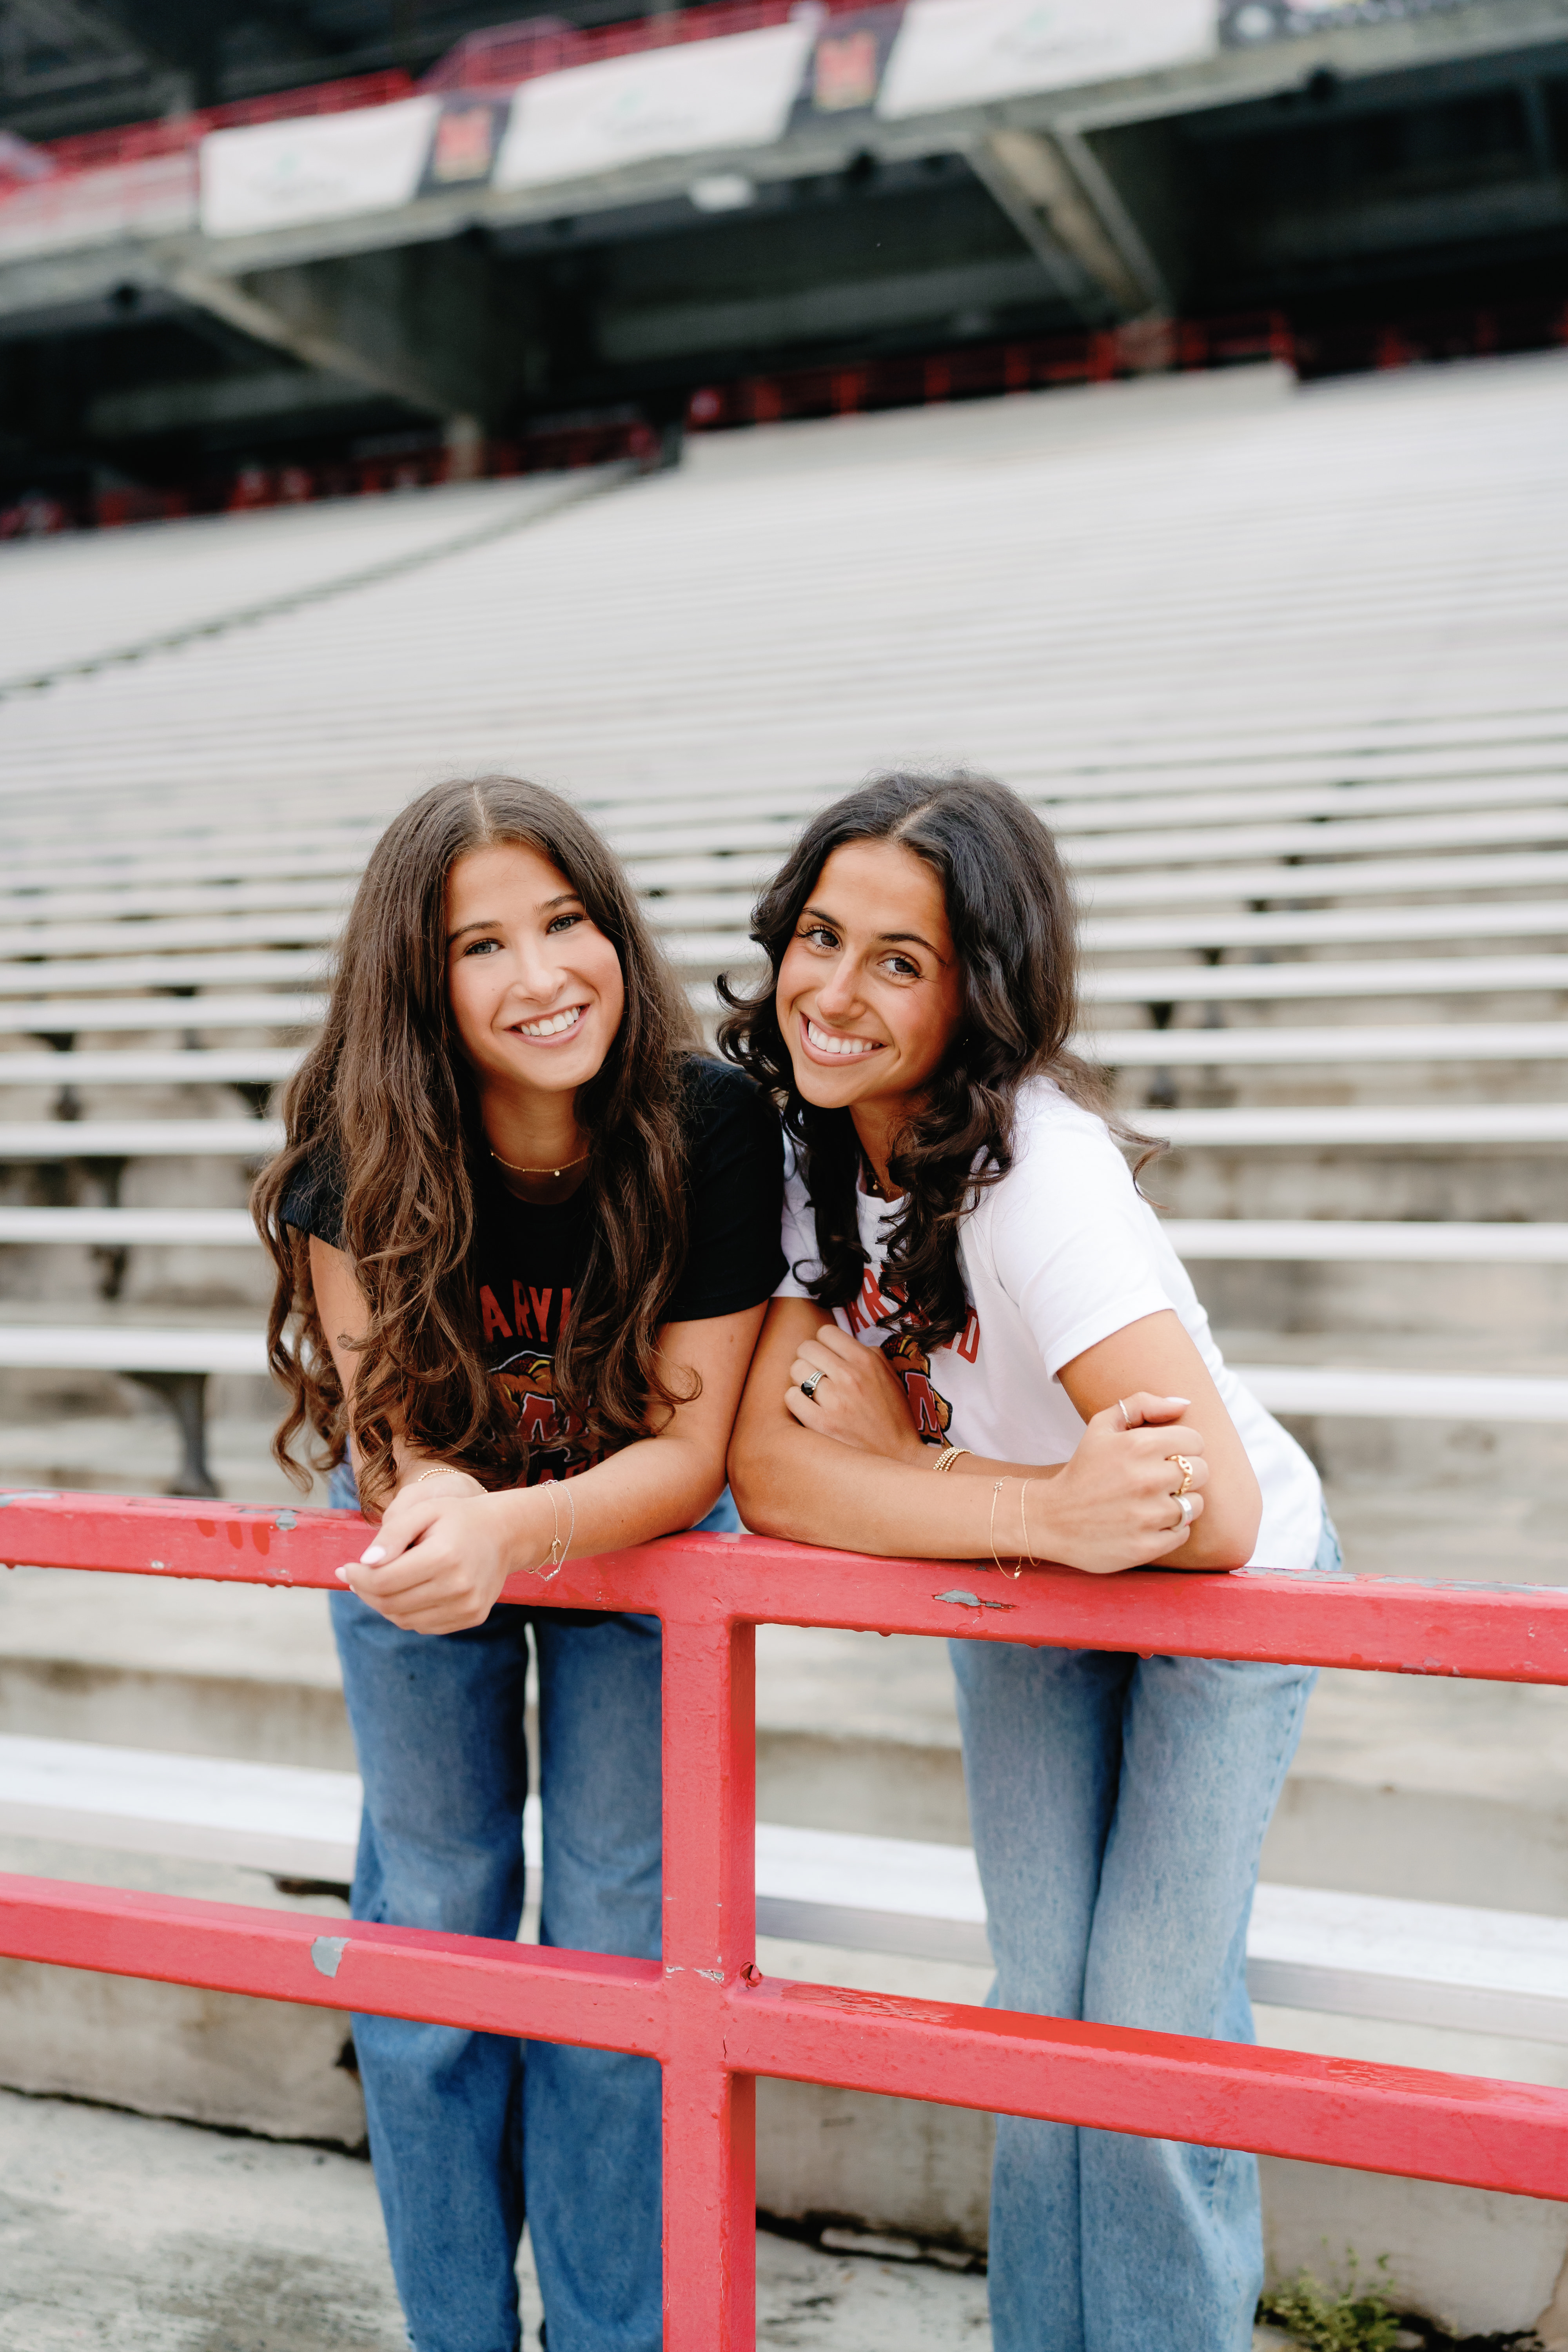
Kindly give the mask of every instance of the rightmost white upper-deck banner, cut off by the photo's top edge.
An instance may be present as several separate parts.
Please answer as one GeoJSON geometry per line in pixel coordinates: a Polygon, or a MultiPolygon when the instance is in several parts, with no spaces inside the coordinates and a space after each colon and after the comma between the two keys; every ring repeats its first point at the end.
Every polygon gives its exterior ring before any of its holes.
{"type": "Polygon", "coordinates": [[[879,115],[985,106],[1211,56],[1218,0],[910,0],[879,115]]]}

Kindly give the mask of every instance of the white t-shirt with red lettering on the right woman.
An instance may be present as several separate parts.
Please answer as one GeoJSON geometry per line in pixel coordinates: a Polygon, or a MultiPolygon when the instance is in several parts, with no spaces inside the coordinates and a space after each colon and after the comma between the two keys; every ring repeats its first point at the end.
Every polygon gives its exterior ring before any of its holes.
{"type": "MultiPolygon", "coordinates": [[[[870,1258],[860,1298],[835,1308],[844,1331],[882,1348],[905,1383],[924,1437],[945,1435],[992,1461],[1063,1463],[1084,1423],[1058,1381],[1086,1348],[1145,1315],[1173,1308],[1213,1374],[1262,1486],[1253,1559],[1309,1569],[1324,1526],[1316,1470],[1286,1430],[1227,1369],[1208,1315],[1171,1237],[1140,1197],[1105,1122],[1051,1080],[1018,1094],[1013,1167],[980,1192],[959,1225],[969,1322],[947,1348],[926,1355],[919,1331],[877,1317],[896,1312],[879,1287],[884,1223],[896,1202],[860,1195],[860,1244],[870,1258]]],[[[783,1249],[790,1272],[776,1298],[806,1298],[820,1272],[816,1218],[804,1178],[788,1171],[783,1249]]]]}

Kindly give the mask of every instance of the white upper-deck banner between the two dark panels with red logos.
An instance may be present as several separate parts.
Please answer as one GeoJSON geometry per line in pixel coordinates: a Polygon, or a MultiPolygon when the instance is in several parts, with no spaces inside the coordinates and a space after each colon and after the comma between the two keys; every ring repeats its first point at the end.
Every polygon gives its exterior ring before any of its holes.
{"type": "Polygon", "coordinates": [[[588,179],[649,155],[769,146],[799,94],[813,24],[689,40],[524,82],[496,188],[588,179]]]}

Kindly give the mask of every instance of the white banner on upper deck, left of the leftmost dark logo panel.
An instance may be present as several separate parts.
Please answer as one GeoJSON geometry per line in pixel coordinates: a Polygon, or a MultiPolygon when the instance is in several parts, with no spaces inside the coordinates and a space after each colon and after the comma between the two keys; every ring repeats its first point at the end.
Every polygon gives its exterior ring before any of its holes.
{"type": "Polygon", "coordinates": [[[202,233],[247,238],[296,221],[411,205],[440,99],[395,99],[348,115],[247,122],[202,139],[202,233]]]}

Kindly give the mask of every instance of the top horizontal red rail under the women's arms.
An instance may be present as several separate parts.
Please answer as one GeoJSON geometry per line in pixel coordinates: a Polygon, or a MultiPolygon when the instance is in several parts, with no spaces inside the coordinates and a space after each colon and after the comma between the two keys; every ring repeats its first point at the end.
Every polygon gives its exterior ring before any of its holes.
{"type": "MultiPolygon", "coordinates": [[[[54,1569],[324,1585],[362,1548],[362,1522],[331,1510],[0,1491],[0,1557],[54,1569]]],[[[665,1536],[635,1552],[574,1559],[545,1590],[515,1576],[505,1599],[635,1609],[696,1621],[844,1625],[964,1635],[1147,1656],[1281,1658],[1396,1675],[1568,1684],[1568,1588],[1394,1583],[1241,1569],[1081,1576],[1027,1569],[1018,1583],[978,1562],[870,1559],[764,1536],[665,1536]],[[954,1595],[973,1595],[973,1606],[954,1595]]]]}

